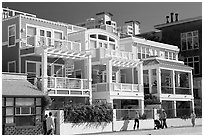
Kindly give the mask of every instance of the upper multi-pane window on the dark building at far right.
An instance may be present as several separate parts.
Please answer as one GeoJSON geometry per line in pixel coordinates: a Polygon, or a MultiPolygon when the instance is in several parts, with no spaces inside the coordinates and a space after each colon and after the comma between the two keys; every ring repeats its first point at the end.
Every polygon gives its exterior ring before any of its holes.
{"type": "Polygon", "coordinates": [[[198,31],[181,33],[181,50],[192,50],[198,48],[198,31]]]}

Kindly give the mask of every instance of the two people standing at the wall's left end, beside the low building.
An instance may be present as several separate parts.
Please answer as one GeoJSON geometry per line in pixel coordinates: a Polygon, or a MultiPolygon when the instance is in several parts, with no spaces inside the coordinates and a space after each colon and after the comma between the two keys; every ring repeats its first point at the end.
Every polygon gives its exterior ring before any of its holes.
{"type": "Polygon", "coordinates": [[[43,119],[44,135],[54,135],[55,122],[52,112],[49,112],[49,116],[46,114],[43,119]]]}

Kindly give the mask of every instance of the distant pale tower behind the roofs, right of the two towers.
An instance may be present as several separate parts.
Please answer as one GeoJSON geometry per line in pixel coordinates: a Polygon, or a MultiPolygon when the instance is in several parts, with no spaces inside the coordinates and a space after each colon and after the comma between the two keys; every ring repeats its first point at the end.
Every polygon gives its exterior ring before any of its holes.
{"type": "Polygon", "coordinates": [[[126,21],[124,26],[118,27],[121,38],[140,34],[140,22],[137,20],[126,21]]]}

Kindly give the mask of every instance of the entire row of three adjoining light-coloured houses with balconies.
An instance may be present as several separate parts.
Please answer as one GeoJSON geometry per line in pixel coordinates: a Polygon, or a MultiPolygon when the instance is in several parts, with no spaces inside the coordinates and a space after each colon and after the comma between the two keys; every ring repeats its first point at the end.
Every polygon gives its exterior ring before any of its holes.
{"type": "Polygon", "coordinates": [[[143,114],[144,96],[153,94],[173,116],[180,104],[194,109],[192,70],[178,61],[178,47],[14,10],[4,13],[2,70],[27,73],[52,98],[52,108],[106,102],[143,114]]]}

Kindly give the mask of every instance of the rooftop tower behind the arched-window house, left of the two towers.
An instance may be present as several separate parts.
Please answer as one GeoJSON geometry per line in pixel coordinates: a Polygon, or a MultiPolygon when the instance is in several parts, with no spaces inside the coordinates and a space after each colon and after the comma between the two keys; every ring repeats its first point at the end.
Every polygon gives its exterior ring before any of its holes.
{"type": "Polygon", "coordinates": [[[117,35],[117,23],[112,20],[113,14],[109,12],[97,13],[95,17],[87,19],[85,22],[78,23],[77,26],[87,29],[100,28],[117,35]]]}

